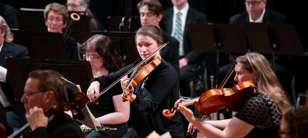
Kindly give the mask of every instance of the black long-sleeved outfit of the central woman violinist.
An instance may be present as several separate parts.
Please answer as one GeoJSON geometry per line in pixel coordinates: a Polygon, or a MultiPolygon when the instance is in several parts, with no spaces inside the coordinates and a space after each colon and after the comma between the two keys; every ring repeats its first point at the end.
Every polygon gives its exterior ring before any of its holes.
{"type": "MultiPolygon", "coordinates": [[[[134,65],[140,61],[136,61],[134,65]]],[[[122,70],[92,81],[99,81],[101,86],[109,86],[134,67],[133,64],[122,70]]],[[[130,75],[129,75],[130,76],[130,75]]],[[[121,87],[119,84],[114,87],[121,87]]],[[[162,115],[164,109],[171,109],[179,99],[179,80],[174,67],[162,59],[162,63],[152,72],[148,79],[134,88],[136,99],[130,102],[130,119],[132,133],[124,135],[131,138],[145,138],[152,131],[159,134],[170,132],[172,137],[184,138],[183,122],[180,113],[169,120],[162,115]]]]}

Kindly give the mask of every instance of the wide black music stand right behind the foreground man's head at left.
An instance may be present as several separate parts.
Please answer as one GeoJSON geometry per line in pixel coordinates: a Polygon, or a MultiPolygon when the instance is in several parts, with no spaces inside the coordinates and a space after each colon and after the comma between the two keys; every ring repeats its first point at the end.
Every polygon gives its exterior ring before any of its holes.
{"type": "Polygon", "coordinates": [[[87,92],[93,78],[91,64],[87,61],[6,58],[6,64],[14,97],[17,100],[22,98],[28,74],[34,70],[58,71],[64,75],[65,79],[79,84],[84,93],[87,92]]]}

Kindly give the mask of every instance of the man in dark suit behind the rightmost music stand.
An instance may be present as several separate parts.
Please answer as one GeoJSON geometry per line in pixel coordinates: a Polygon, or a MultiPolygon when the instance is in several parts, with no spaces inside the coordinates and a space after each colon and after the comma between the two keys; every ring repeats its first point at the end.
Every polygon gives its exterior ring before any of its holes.
{"type": "MultiPolygon", "coordinates": [[[[287,24],[289,21],[286,15],[281,13],[265,9],[266,0],[246,0],[245,6],[246,11],[243,13],[239,13],[230,17],[230,24],[240,24],[243,25],[243,22],[258,22],[258,23],[277,23],[277,24],[287,24]]],[[[229,63],[220,68],[220,82],[224,79],[225,75],[229,71],[234,60],[240,55],[237,54],[227,54],[227,58],[229,59],[229,63]]],[[[264,56],[268,59],[270,63],[272,63],[271,54],[264,54],[264,56]]],[[[275,55],[275,74],[278,77],[280,83],[283,88],[289,93],[292,97],[291,93],[291,81],[293,78],[293,69],[290,66],[292,63],[292,59],[288,56],[275,55]]],[[[233,72],[230,78],[235,77],[235,72],[233,72]]],[[[225,87],[231,88],[234,84],[237,84],[233,79],[229,79],[225,87]]]]}

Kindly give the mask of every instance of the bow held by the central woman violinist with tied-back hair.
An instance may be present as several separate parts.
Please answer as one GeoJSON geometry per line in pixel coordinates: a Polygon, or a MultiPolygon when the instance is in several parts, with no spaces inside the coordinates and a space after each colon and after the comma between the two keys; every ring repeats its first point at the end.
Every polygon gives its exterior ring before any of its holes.
{"type": "MultiPolygon", "coordinates": [[[[161,49],[163,49],[167,44],[169,44],[169,42],[163,44],[160,48],[156,49],[152,54],[150,54],[148,57],[146,57],[145,59],[143,59],[140,63],[138,63],[135,67],[133,67],[131,70],[129,70],[127,73],[125,73],[122,77],[120,77],[119,79],[117,79],[115,82],[113,82],[111,85],[109,85],[105,90],[103,90],[102,92],[99,93],[98,97],[101,96],[102,94],[104,94],[107,90],[109,90],[112,86],[114,86],[116,83],[118,83],[121,79],[123,79],[126,75],[128,75],[129,73],[131,73],[132,71],[134,71],[137,67],[139,67],[142,63],[144,63],[145,61],[147,61],[148,59],[152,58],[152,56],[154,54],[156,54],[157,52],[159,52],[161,49]]],[[[89,104],[89,102],[87,102],[87,104],[89,104]]]]}

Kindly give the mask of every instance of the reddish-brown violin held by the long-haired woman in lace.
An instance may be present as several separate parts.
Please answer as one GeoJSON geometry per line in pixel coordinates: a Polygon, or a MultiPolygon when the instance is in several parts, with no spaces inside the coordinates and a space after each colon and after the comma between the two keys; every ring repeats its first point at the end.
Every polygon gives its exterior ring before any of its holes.
{"type": "Polygon", "coordinates": [[[242,103],[248,99],[251,94],[256,93],[256,86],[252,81],[242,82],[234,85],[231,89],[212,89],[203,93],[200,97],[190,101],[178,104],[171,111],[164,109],[163,115],[166,118],[172,118],[174,113],[180,111],[180,106],[197,105],[197,109],[201,115],[215,113],[221,109],[228,111],[238,111],[242,103]]]}

